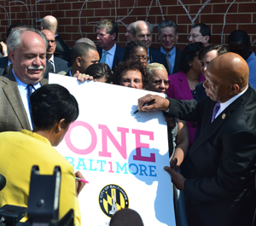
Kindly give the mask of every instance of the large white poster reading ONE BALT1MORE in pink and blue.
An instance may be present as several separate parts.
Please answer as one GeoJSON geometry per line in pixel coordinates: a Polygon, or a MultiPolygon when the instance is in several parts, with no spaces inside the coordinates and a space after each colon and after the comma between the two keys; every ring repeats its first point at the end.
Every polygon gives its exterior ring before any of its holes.
{"type": "Polygon", "coordinates": [[[79,118],[56,149],[89,181],[79,194],[82,225],[106,226],[125,207],[145,226],[176,225],[171,177],[163,170],[169,165],[163,113],[134,114],[138,98],[150,92],[57,74],[49,74],[49,83],[79,102],[79,118]]]}

